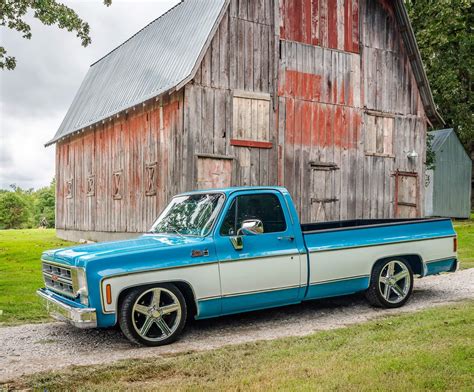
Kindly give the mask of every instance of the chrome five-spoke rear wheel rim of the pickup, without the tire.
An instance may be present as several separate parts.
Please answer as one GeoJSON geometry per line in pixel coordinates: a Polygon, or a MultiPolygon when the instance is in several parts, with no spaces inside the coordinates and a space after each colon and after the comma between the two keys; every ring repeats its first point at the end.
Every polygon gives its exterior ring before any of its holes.
{"type": "Polygon", "coordinates": [[[380,294],[391,304],[402,302],[410,293],[410,271],[401,261],[388,262],[380,271],[378,280],[380,294]]]}

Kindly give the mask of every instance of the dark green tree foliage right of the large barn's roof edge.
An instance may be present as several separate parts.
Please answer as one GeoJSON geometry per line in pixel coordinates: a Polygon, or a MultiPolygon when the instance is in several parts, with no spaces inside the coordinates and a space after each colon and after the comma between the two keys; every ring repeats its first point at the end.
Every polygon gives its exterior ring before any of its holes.
{"type": "Polygon", "coordinates": [[[474,2],[405,0],[435,102],[474,152],[474,2]]]}

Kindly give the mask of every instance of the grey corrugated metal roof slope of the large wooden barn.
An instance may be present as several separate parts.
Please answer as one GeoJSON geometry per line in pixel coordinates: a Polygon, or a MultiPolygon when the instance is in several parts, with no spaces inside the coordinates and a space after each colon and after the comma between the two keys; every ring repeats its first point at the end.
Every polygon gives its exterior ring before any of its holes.
{"type": "Polygon", "coordinates": [[[191,76],[226,0],[185,0],[92,64],[54,138],[58,140],[191,76]]]}

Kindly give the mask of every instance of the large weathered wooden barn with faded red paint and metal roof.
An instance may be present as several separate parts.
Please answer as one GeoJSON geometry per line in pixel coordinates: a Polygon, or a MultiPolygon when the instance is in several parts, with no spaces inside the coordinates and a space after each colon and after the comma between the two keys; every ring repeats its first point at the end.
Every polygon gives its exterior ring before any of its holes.
{"type": "Polygon", "coordinates": [[[284,185],[302,222],[423,213],[441,124],[402,0],[185,0],[92,64],[56,145],[60,237],[172,195],[284,185]]]}

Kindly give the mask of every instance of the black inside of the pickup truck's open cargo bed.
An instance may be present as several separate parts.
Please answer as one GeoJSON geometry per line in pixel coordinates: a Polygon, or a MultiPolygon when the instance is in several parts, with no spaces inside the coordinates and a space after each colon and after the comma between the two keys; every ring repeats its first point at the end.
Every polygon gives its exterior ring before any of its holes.
{"type": "Polygon", "coordinates": [[[367,228],[369,226],[389,226],[421,222],[435,222],[440,220],[450,220],[449,218],[405,218],[405,219],[353,219],[334,222],[303,223],[301,231],[310,234],[326,230],[351,230],[367,228]]]}

